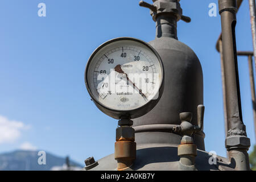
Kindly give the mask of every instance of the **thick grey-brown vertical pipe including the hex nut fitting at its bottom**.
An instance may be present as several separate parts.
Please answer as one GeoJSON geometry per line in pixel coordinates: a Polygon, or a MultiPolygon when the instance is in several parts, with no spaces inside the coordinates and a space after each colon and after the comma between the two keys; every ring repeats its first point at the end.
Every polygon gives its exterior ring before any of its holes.
{"type": "Polygon", "coordinates": [[[250,139],[246,137],[245,125],[242,122],[237,65],[235,34],[237,1],[218,0],[218,7],[221,15],[226,113],[228,116],[228,135],[225,146],[229,151],[230,160],[234,159],[236,162],[235,168],[237,170],[249,170],[247,150],[250,147],[250,139]]]}

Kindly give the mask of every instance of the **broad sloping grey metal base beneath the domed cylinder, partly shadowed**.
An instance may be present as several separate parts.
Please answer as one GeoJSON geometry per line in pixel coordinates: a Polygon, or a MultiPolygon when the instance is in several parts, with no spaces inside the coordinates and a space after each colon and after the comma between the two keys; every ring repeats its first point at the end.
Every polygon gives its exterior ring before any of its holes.
{"type": "MultiPolygon", "coordinates": [[[[234,168],[226,158],[216,156],[216,164],[210,164],[213,156],[208,152],[197,149],[195,167],[198,171],[229,170],[234,168]]],[[[127,170],[136,171],[180,171],[189,168],[180,168],[180,158],[177,156],[177,145],[174,144],[143,144],[137,146],[137,159],[127,170]]],[[[99,165],[91,169],[92,171],[114,171],[117,170],[117,161],[114,154],[98,160],[99,165]]],[[[233,163],[232,163],[233,164],[233,163]]]]}

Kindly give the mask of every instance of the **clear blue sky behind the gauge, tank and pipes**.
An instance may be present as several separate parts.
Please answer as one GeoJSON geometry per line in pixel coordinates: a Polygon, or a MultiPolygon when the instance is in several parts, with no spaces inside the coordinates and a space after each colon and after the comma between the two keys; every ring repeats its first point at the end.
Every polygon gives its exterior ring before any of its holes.
{"type": "MultiPolygon", "coordinates": [[[[101,43],[120,36],[146,42],[155,23],[139,1],[0,1],[0,152],[38,148],[77,162],[114,152],[117,121],[90,101],[84,84],[86,62],[101,43]],[[46,3],[46,17],[38,4],[46,3]]],[[[147,1],[151,2],[151,1],[147,1]]],[[[199,57],[204,73],[205,146],[225,156],[220,55],[215,49],[220,15],[208,15],[217,0],[181,0],[191,23],[177,24],[178,38],[199,57]]],[[[249,5],[237,15],[237,49],[253,50],[249,5]]],[[[246,57],[238,57],[243,122],[254,140],[246,57]]],[[[252,148],[252,147],[251,147],[252,148]]]]}

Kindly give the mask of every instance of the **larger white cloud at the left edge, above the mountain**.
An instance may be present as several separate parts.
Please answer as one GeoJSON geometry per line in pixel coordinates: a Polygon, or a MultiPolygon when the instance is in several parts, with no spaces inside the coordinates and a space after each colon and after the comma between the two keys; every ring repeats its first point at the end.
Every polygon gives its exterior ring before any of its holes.
{"type": "Polygon", "coordinates": [[[29,126],[24,125],[20,121],[11,121],[0,115],[0,143],[12,143],[17,140],[21,131],[28,129],[29,126]]]}

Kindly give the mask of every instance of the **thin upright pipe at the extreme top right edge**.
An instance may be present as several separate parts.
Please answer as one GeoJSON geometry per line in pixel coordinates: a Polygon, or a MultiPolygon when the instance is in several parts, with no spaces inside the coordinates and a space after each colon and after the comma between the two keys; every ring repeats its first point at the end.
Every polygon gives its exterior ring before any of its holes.
{"type": "MultiPolygon", "coordinates": [[[[254,60],[256,60],[256,18],[255,18],[255,0],[249,0],[250,19],[251,19],[251,34],[253,35],[253,52],[254,60]]],[[[255,63],[256,68],[256,63],[255,63]]]]}

